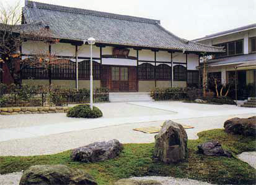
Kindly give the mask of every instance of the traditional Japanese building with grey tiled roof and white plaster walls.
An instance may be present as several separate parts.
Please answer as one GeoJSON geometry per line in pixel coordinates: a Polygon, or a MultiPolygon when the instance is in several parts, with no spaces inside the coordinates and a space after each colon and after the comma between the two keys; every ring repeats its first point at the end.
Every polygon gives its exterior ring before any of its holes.
{"type": "Polygon", "coordinates": [[[51,30],[60,43],[27,40],[22,43],[22,59],[42,52],[65,59],[64,67],[44,70],[27,67],[22,83],[89,88],[90,47],[87,38],[96,40],[92,48],[94,87],[110,91],[145,92],[156,87],[198,86],[198,66],[202,52],[217,54],[223,47],[188,41],[166,30],[160,20],[94,10],[25,1],[22,9],[24,30],[51,30]],[[27,27],[26,27],[27,25],[27,27]],[[33,79],[33,80],[31,80],[33,79]]]}

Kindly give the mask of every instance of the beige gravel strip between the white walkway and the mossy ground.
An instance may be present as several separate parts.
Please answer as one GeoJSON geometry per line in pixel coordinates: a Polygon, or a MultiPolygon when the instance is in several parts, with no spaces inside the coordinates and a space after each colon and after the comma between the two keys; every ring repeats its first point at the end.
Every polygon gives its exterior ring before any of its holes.
{"type": "MultiPolygon", "coordinates": [[[[178,123],[195,126],[187,129],[188,139],[197,139],[196,134],[200,131],[223,128],[225,120],[234,117],[248,118],[253,114],[246,115],[225,115],[219,117],[189,118],[174,120],[178,123]]],[[[146,126],[161,126],[163,121],[146,123],[131,123],[117,126],[107,126],[93,130],[73,131],[69,133],[53,134],[37,138],[15,139],[0,142],[0,156],[7,155],[46,155],[56,154],[64,150],[85,146],[96,141],[109,141],[118,139],[122,143],[149,143],[154,142],[155,134],[145,134],[133,131],[133,128],[146,126]],[[10,147],[11,146],[11,147],[10,147]]]]}

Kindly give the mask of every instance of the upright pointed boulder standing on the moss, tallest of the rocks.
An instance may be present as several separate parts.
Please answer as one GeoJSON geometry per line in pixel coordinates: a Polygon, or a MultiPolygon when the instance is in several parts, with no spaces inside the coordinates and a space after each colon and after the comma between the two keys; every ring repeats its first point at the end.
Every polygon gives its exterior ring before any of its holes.
{"type": "Polygon", "coordinates": [[[164,163],[182,161],[187,155],[187,142],[183,126],[167,120],[155,136],[154,157],[164,163]]]}

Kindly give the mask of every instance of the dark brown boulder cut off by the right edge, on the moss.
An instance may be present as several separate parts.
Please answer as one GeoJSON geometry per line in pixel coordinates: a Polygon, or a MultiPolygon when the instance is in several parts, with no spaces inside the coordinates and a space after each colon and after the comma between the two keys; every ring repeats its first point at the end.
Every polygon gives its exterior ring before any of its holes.
{"type": "Polygon", "coordinates": [[[224,122],[226,133],[254,136],[256,138],[256,117],[232,118],[224,122]]]}

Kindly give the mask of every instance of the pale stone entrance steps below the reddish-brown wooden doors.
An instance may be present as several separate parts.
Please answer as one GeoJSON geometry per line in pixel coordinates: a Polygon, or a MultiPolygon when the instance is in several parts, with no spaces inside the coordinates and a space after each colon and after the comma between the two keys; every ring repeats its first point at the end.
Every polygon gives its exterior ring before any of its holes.
{"type": "Polygon", "coordinates": [[[110,102],[152,102],[149,92],[110,92],[110,102]]]}

